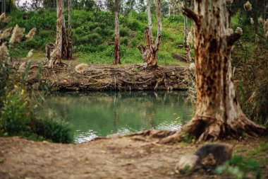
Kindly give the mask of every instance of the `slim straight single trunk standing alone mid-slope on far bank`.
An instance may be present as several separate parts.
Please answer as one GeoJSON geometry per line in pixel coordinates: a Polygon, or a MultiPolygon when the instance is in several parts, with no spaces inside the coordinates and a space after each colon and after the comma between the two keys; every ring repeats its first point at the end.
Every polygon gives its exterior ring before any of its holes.
{"type": "Polygon", "coordinates": [[[120,34],[119,34],[119,0],[114,2],[114,64],[120,62],[120,34]]]}

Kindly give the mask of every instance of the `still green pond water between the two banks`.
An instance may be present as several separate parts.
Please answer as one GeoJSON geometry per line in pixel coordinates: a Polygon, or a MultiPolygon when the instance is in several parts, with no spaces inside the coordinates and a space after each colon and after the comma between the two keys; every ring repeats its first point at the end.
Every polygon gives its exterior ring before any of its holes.
{"type": "Polygon", "coordinates": [[[185,98],[181,91],[56,93],[47,97],[43,111],[68,121],[80,143],[115,133],[179,129],[192,115],[185,98]]]}

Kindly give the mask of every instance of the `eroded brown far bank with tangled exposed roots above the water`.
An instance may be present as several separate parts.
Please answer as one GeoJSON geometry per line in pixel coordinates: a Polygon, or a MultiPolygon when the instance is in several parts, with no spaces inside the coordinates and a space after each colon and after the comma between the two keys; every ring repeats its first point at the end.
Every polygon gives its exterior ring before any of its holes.
{"type": "MultiPolygon", "coordinates": [[[[189,70],[186,67],[162,66],[145,69],[143,64],[118,66],[90,64],[83,73],[78,73],[75,71],[77,62],[65,63],[49,68],[33,61],[28,72],[28,86],[33,89],[48,86],[52,90],[66,91],[171,91],[185,90],[189,83],[189,70]]],[[[19,66],[20,64],[17,64],[17,68],[19,66]]],[[[25,70],[20,71],[22,74],[25,70]]]]}

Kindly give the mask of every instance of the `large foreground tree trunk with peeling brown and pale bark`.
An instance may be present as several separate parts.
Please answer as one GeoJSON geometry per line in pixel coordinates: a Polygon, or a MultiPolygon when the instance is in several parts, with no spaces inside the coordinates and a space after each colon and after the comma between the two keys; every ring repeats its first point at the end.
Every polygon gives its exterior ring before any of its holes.
{"type": "Polygon", "coordinates": [[[244,115],[236,98],[231,47],[240,35],[229,34],[226,0],[195,0],[195,12],[184,10],[195,21],[197,110],[183,129],[198,141],[262,134],[265,128],[244,115]]]}

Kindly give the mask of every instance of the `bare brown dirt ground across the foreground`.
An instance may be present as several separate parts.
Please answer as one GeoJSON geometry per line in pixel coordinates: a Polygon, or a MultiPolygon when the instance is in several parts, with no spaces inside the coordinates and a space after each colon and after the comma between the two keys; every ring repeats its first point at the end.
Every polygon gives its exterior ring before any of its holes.
{"type": "MultiPolygon", "coordinates": [[[[227,141],[236,154],[247,155],[267,138],[227,141]]],[[[174,172],[178,159],[193,153],[196,144],[162,145],[140,136],[97,139],[82,144],[32,142],[0,138],[0,178],[231,178],[229,175],[174,172]]],[[[262,156],[268,178],[267,151],[262,156]]]]}

